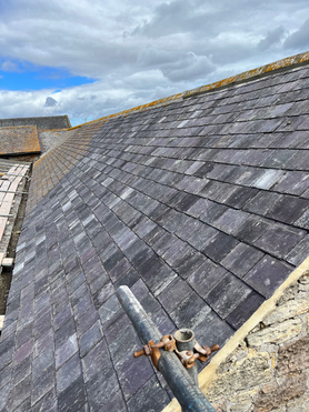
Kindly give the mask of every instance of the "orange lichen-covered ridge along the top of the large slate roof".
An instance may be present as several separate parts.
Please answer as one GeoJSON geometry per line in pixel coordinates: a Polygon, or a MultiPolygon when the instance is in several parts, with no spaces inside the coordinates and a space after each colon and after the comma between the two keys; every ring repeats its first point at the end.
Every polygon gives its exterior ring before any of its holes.
{"type": "Polygon", "coordinates": [[[120,115],[128,115],[130,113],[139,112],[141,110],[147,110],[149,108],[157,107],[157,105],[166,105],[166,104],[171,103],[176,100],[187,99],[187,98],[190,98],[192,96],[200,94],[200,93],[203,93],[203,92],[207,92],[207,91],[212,91],[215,89],[220,89],[222,87],[227,87],[227,86],[230,86],[230,84],[240,83],[240,82],[243,82],[246,80],[252,80],[253,78],[257,78],[261,74],[268,74],[272,71],[287,69],[287,68],[290,68],[292,66],[303,64],[303,63],[307,63],[308,61],[309,61],[309,51],[306,51],[303,53],[298,53],[298,54],[295,54],[295,56],[291,56],[291,57],[288,57],[288,58],[281,59],[281,60],[277,60],[272,63],[261,66],[257,69],[248,70],[248,71],[245,71],[242,73],[231,76],[230,78],[226,78],[226,79],[216,81],[213,83],[209,83],[209,84],[196,88],[196,89],[187,90],[182,93],[172,94],[172,96],[167,97],[167,98],[154,100],[150,103],[137,105],[132,109],[122,110],[118,113],[113,113],[113,114],[109,114],[109,115],[106,115],[106,117],[100,118],[100,119],[91,120],[89,122],[74,125],[74,127],[69,128],[67,130],[78,129],[78,128],[81,128],[82,125],[91,124],[91,123],[96,123],[96,122],[106,122],[106,121],[108,121],[112,118],[117,118],[117,117],[120,117],[120,115]]]}

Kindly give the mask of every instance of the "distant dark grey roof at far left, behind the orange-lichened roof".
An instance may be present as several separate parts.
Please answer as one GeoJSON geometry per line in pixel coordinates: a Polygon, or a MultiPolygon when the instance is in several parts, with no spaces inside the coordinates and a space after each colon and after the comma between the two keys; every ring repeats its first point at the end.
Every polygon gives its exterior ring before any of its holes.
{"type": "Polygon", "coordinates": [[[13,118],[0,119],[0,127],[17,127],[17,125],[37,125],[38,130],[42,129],[68,129],[71,128],[68,115],[47,115],[38,118],[13,118]]]}

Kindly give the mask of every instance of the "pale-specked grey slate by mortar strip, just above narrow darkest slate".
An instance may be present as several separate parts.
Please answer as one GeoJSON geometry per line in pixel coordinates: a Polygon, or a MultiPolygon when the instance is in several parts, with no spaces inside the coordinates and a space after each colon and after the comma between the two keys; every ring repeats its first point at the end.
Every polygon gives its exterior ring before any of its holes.
{"type": "Polygon", "coordinates": [[[287,279],[292,267],[266,255],[243,278],[245,282],[269,298],[275,290],[287,279]]]}

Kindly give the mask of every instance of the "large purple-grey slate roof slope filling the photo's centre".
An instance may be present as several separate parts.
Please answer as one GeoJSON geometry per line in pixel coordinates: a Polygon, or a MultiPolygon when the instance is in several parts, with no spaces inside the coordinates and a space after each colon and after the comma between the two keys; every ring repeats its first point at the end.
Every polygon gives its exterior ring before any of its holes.
{"type": "Polygon", "coordinates": [[[308,98],[291,66],[90,122],[34,164],[0,410],[162,410],[114,288],[223,344],[308,255],[308,98]]]}

